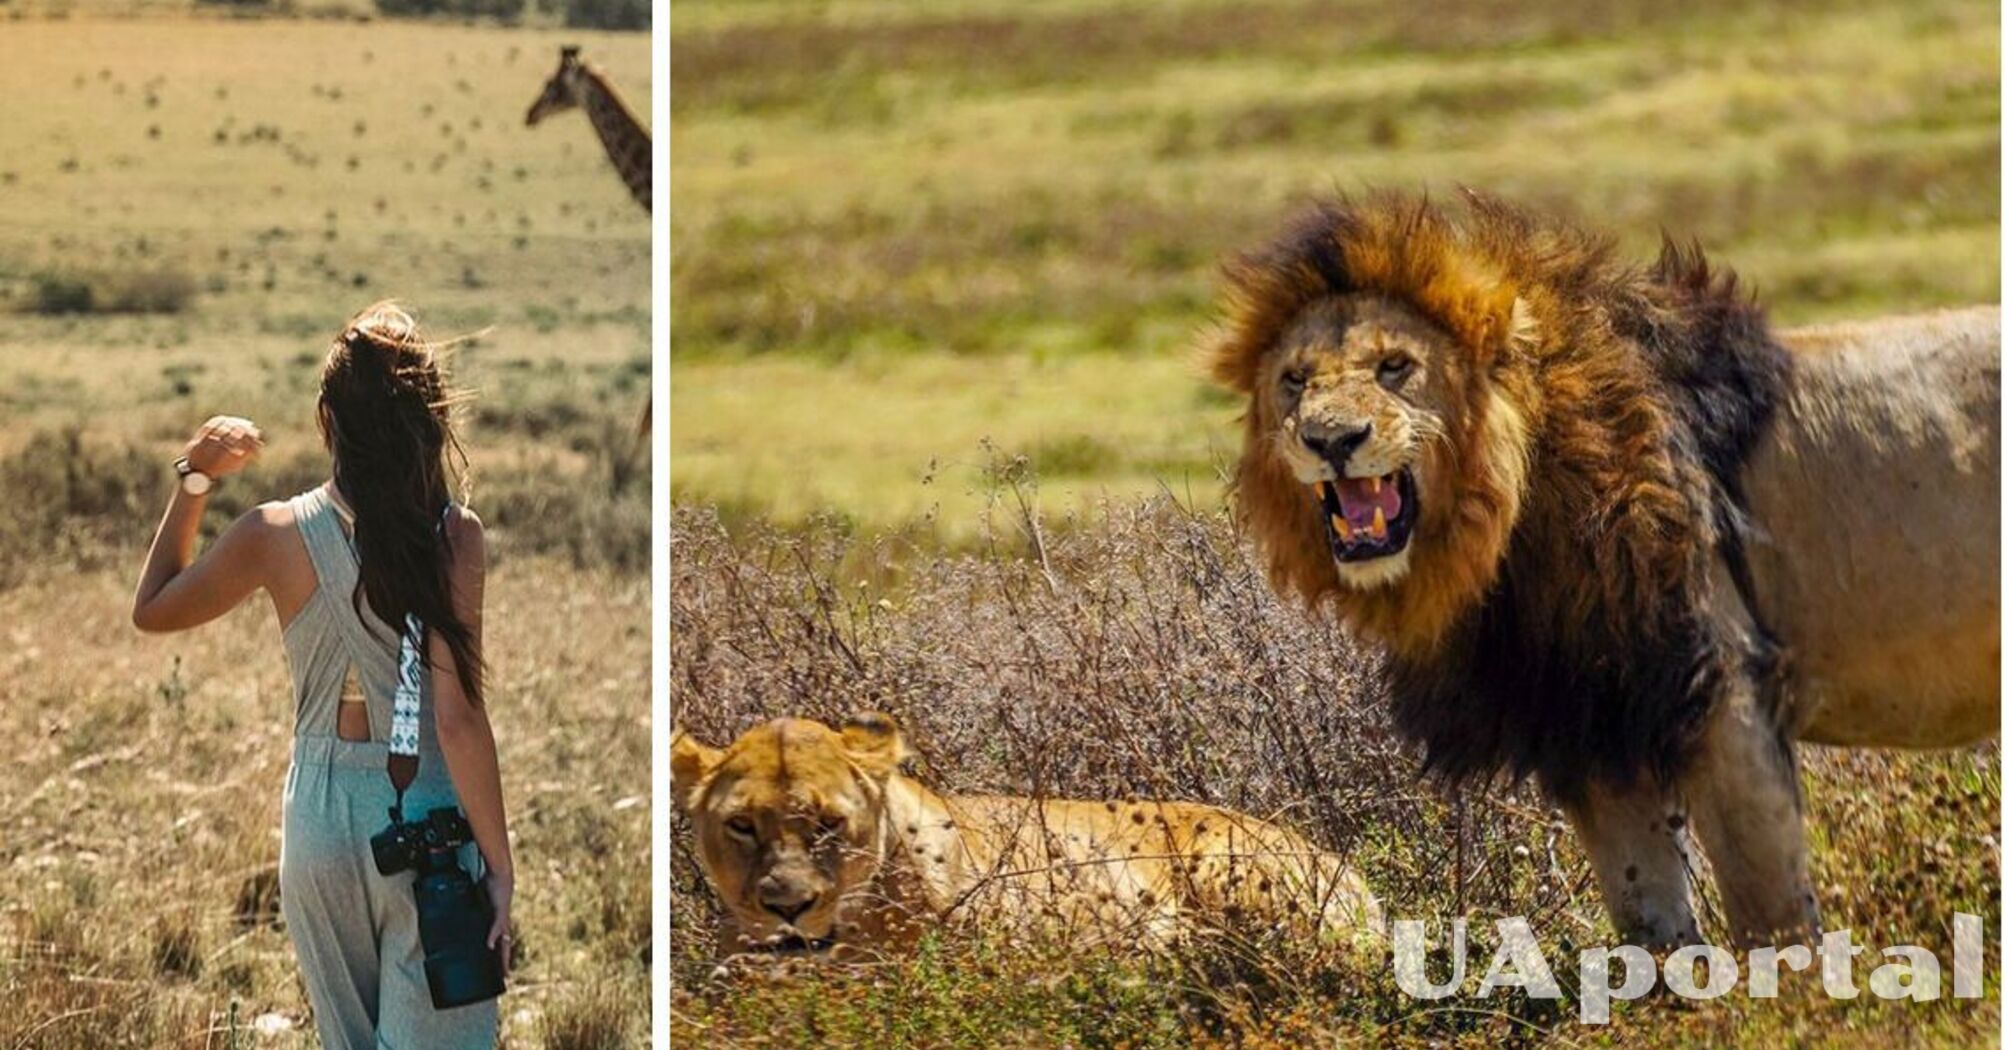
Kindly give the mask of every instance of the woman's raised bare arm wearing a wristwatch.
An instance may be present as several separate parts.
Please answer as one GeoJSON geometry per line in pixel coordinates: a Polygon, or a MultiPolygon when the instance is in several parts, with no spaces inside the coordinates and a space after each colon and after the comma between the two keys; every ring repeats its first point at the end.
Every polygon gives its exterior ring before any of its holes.
{"type": "MultiPolygon", "coordinates": [[[[241,471],[257,455],[263,439],[249,420],[217,416],[189,443],[189,465],[211,479],[241,471]]],[[[195,557],[195,537],[203,523],[205,495],[175,487],[161,515],[161,527],[147,549],[139,589],[133,595],[133,626],[143,632],[199,628],[249,597],[265,583],[271,529],[265,509],[253,509],[231,523],[221,537],[195,557]]]]}

